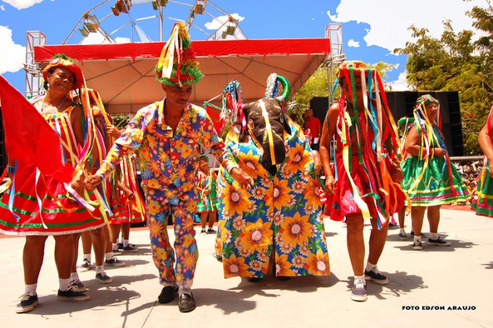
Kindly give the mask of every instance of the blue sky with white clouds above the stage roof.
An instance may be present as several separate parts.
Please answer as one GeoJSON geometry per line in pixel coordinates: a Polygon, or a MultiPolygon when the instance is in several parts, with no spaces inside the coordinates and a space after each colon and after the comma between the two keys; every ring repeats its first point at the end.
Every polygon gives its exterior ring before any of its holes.
{"type": "MultiPolygon", "coordinates": [[[[250,0],[225,1],[214,0],[213,4],[240,18],[239,26],[248,39],[288,39],[325,37],[325,27],[330,23],[342,24],[344,53],[349,60],[361,60],[366,63],[399,64],[389,73],[387,80],[395,82],[394,89],[406,89],[404,66],[406,56],[395,56],[392,50],[403,47],[412,41],[407,30],[409,25],[426,27],[433,35],[442,34],[442,20],[452,20],[454,30],[471,30],[472,21],[464,13],[473,6],[487,6],[488,0],[250,0]],[[423,10],[423,8],[425,8],[423,10]]],[[[82,17],[82,13],[104,1],[101,0],[0,0],[0,74],[24,92],[27,31],[42,31],[47,44],[61,44],[68,37],[82,17]]],[[[111,13],[114,0],[109,1],[93,12],[101,19],[111,13]]],[[[133,1],[133,2],[142,2],[133,1]]],[[[194,0],[180,0],[193,4],[194,0]]],[[[214,17],[223,15],[211,4],[206,10],[214,17]]],[[[186,20],[189,7],[169,3],[164,15],[186,20]]],[[[135,20],[156,15],[151,4],[132,6],[130,15],[135,20]]],[[[194,23],[208,33],[213,18],[209,15],[197,15],[194,23]]],[[[129,22],[129,16],[111,16],[101,23],[106,32],[111,33],[129,22]]],[[[163,36],[169,36],[173,20],[165,20],[163,36]]],[[[158,40],[158,20],[148,19],[137,25],[153,40],[158,40]]],[[[78,27],[81,28],[81,27],[78,27]]],[[[206,39],[207,34],[196,28],[191,30],[192,40],[206,39]]],[[[118,42],[129,41],[130,26],[123,27],[112,34],[118,42]]],[[[78,44],[82,34],[75,31],[69,44],[78,44]]],[[[86,40],[87,41],[87,40],[86,40]]],[[[135,41],[139,41],[135,37],[135,41]]]]}

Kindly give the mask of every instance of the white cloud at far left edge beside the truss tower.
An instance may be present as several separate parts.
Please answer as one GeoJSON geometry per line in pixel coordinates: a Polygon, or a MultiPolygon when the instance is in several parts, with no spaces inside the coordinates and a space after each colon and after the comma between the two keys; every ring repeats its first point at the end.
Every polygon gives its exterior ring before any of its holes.
{"type": "Polygon", "coordinates": [[[17,72],[25,62],[25,46],[15,44],[12,30],[0,25],[0,74],[17,72]]]}

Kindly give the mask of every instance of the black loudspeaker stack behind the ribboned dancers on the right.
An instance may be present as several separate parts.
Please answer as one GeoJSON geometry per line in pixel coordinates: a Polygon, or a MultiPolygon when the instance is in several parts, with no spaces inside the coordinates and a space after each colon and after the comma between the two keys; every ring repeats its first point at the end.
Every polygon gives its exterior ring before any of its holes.
{"type": "MultiPolygon", "coordinates": [[[[458,92],[385,92],[389,109],[397,123],[399,118],[413,117],[416,100],[423,94],[430,94],[440,102],[440,115],[442,115],[442,133],[445,138],[445,146],[449,156],[464,156],[464,141],[462,137],[461,106],[458,101],[458,92]]],[[[310,101],[320,122],[324,122],[329,108],[327,97],[313,97],[310,101]]]]}

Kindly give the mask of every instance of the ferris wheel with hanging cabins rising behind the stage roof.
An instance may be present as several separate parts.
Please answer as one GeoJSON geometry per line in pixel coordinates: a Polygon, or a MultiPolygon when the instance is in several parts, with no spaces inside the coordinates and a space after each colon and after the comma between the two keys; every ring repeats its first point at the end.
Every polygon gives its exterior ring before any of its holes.
{"type": "Polygon", "coordinates": [[[124,35],[127,42],[162,42],[166,20],[184,22],[190,34],[200,32],[199,36],[193,35],[195,39],[246,39],[239,28],[241,19],[208,0],[194,0],[190,3],[173,0],[106,0],[82,14],[63,44],[75,39],[77,30],[82,34],[79,44],[118,43],[117,35],[124,35]],[[149,15],[149,12],[154,12],[154,15],[149,15]],[[178,17],[168,16],[167,13],[178,17]],[[208,27],[199,27],[201,23],[208,27]],[[148,30],[155,35],[156,30],[153,31],[153,28],[158,30],[155,39],[144,32],[148,30]]]}

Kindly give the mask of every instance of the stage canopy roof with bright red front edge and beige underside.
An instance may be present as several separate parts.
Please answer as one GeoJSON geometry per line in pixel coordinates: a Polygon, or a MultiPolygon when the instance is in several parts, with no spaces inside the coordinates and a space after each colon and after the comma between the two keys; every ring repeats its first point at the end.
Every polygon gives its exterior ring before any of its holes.
{"type": "MultiPolygon", "coordinates": [[[[35,46],[35,61],[45,66],[56,53],[79,61],[87,86],[98,91],[109,113],[136,113],[165,95],[154,67],[164,42],[35,46]]],[[[275,72],[289,80],[293,96],[318,68],[329,39],[193,41],[204,78],[190,101],[202,106],[222,94],[231,80],[242,84],[247,101],[263,98],[266,80],[275,72]]],[[[212,103],[220,103],[220,96],[212,103]]]]}

